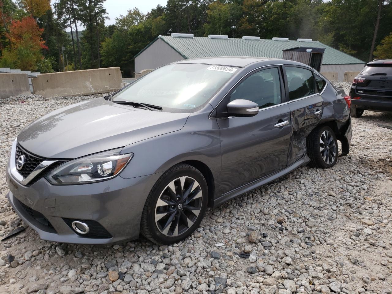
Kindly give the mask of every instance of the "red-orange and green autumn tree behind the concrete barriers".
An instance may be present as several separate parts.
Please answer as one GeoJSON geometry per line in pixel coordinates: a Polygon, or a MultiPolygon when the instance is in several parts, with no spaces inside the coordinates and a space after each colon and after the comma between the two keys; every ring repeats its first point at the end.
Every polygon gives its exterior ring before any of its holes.
{"type": "Polygon", "coordinates": [[[6,34],[10,44],[3,51],[0,65],[23,71],[50,72],[51,65],[42,56],[42,49],[47,49],[41,38],[43,31],[31,16],[13,20],[6,34]]]}

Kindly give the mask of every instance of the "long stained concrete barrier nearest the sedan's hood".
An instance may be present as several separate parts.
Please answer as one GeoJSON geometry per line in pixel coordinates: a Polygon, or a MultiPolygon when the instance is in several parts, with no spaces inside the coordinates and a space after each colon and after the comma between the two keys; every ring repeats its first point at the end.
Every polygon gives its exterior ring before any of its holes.
{"type": "Polygon", "coordinates": [[[34,94],[46,98],[107,93],[122,87],[120,67],[38,74],[31,82],[34,94]]]}

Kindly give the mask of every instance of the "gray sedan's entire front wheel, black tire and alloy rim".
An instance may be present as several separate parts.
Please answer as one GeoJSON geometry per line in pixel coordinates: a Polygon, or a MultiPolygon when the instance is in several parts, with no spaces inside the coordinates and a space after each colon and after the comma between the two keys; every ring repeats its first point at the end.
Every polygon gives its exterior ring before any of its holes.
{"type": "Polygon", "coordinates": [[[157,244],[172,244],[198,228],[207,209],[208,187],[203,174],[180,163],[164,172],[143,208],[140,230],[157,244]]]}

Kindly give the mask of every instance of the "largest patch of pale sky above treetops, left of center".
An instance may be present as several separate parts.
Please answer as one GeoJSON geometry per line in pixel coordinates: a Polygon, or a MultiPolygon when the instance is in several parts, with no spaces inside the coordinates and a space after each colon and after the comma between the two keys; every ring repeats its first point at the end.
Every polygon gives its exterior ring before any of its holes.
{"type": "Polygon", "coordinates": [[[160,4],[165,6],[166,3],[167,0],[106,0],[103,6],[106,8],[110,20],[106,20],[105,24],[114,24],[116,22],[116,17],[126,15],[129,9],[136,7],[143,13],[147,13],[152,8],[156,7],[156,5],[160,4]]]}

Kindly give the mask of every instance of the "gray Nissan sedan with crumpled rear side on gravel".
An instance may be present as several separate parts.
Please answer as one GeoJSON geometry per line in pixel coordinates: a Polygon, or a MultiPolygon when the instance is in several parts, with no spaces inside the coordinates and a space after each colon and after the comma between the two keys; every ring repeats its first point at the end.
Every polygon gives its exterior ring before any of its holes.
{"type": "Polygon", "coordinates": [[[7,197],[43,240],[187,238],[207,207],[348,154],[350,97],[288,60],[216,57],[160,67],[25,127],[7,197]],[[341,150],[338,150],[338,142],[341,150]]]}

